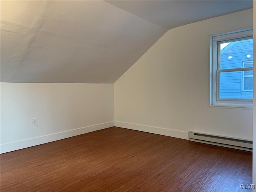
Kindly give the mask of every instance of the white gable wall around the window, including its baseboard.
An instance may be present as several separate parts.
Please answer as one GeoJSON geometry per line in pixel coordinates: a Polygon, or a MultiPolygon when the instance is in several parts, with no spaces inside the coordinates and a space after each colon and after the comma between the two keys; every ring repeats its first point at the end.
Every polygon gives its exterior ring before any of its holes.
{"type": "Polygon", "coordinates": [[[115,125],[252,140],[252,109],[209,107],[210,35],[252,28],[245,10],[169,30],[114,83],[115,125]]]}

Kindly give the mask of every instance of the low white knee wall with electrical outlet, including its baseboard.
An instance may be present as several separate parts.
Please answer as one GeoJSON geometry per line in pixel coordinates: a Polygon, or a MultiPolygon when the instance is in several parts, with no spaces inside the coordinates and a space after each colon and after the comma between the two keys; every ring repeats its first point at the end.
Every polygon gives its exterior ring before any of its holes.
{"type": "Polygon", "coordinates": [[[1,153],[111,126],[113,84],[1,82],[1,153]]]}

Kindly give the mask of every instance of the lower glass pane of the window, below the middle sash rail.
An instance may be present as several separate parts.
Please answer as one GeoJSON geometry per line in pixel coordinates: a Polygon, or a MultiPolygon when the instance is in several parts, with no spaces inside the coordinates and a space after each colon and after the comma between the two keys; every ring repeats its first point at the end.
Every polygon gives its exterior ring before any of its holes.
{"type": "MultiPolygon", "coordinates": [[[[244,77],[245,71],[220,72],[220,99],[252,99],[253,77],[244,77]],[[246,88],[246,90],[244,89],[246,88]]],[[[251,72],[251,71],[248,71],[251,72]]]]}

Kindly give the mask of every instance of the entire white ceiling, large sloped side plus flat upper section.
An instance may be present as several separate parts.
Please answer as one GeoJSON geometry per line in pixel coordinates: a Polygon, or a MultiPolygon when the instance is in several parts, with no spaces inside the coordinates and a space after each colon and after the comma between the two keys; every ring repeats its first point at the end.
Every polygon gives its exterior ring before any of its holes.
{"type": "Polygon", "coordinates": [[[1,82],[113,83],[168,29],[252,1],[1,1],[1,82]]]}

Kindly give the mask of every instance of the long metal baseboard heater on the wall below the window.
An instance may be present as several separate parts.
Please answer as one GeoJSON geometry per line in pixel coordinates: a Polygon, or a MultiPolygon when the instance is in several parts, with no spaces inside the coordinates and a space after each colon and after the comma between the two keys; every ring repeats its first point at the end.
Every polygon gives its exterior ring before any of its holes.
{"type": "Polygon", "coordinates": [[[229,147],[245,151],[252,151],[252,140],[210,135],[198,132],[188,132],[188,139],[200,143],[212,144],[222,147],[229,147]]]}

